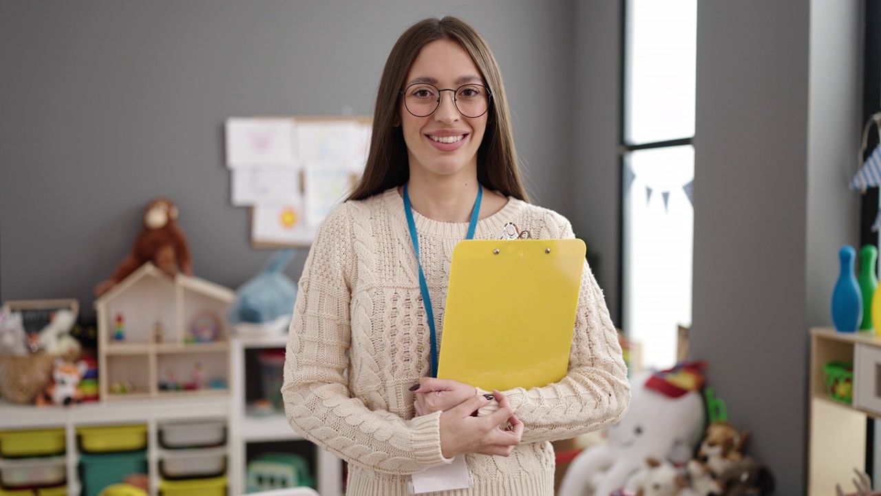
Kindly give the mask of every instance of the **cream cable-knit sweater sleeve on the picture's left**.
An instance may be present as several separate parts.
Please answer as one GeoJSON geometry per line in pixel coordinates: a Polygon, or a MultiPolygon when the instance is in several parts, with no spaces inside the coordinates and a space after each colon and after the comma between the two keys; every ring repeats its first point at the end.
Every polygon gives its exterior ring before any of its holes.
{"type": "Polygon", "coordinates": [[[300,277],[282,386],[288,422],[346,462],[382,473],[451,462],[441,455],[441,412],[404,420],[351,397],[345,371],[356,270],[348,208],[337,207],[322,222],[300,277]]]}

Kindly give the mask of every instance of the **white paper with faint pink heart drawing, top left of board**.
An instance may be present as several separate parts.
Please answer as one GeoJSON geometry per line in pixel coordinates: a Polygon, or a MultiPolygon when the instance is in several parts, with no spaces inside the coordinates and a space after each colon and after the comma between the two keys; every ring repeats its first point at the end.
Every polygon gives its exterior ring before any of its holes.
{"type": "Polygon", "coordinates": [[[226,120],[226,166],[287,165],[296,162],[292,119],[233,117],[226,120]]]}

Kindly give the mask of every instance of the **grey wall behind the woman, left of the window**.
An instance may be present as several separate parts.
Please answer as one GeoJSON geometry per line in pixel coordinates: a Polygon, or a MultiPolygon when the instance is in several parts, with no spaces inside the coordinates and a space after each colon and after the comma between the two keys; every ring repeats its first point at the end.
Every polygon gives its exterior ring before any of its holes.
{"type": "MultiPolygon", "coordinates": [[[[0,2],[0,299],[77,297],[174,199],[196,275],[237,288],[269,252],[232,207],[229,116],[370,114],[403,30],[453,13],[502,67],[530,191],[570,214],[568,1],[0,2]]],[[[305,252],[289,273],[298,278],[305,252]]]]}

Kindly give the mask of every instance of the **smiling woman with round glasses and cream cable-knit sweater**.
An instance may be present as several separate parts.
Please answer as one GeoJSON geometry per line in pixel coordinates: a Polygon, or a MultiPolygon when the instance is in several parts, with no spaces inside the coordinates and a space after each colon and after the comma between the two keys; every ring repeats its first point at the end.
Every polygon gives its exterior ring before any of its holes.
{"type": "Polygon", "coordinates": [[[485,41],[452,17],[411,26],[383,71],[373,129],[364,176],[322,222],[300,279],[288,420],[349,462],[349,494],[403,496],[426,470],[459,464],[467,488],[444,494],[551,495],[549,441],[613,424],[630,397],[589,267],[563,380],[490,394],[431,377],[456,243],[499,239],[508,222],[574,237],[527,203],[485,41]]]}

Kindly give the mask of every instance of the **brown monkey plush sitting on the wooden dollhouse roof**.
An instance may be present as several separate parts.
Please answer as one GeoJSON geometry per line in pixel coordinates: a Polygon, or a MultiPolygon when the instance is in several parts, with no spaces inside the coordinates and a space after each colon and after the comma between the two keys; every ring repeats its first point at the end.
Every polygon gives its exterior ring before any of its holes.
{"type": "Polygon", "coordinates": [[[177,207],[170,199],[153,199],[144,210],[144,228],[137,235],[129,256],[116,267],[110,279],[95,287],[95,295],[100,297],[146,262],[152,262],[171,277],[178,272],[192,275],[193,260],[189,256],[187,237],[177,224],[177,215],[177,207]]]}

